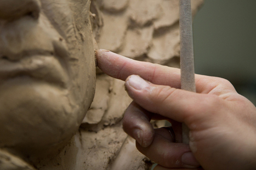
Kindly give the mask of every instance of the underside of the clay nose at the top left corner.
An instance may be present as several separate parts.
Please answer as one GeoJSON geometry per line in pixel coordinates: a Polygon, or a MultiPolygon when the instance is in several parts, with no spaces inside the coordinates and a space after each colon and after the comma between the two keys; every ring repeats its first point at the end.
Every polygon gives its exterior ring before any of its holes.
{"type": "Polygon", "coordinates": [[[16,20],[22,16],[38,19],[40,12],[38,0],[0,0],[0,20],[16,20]]]}

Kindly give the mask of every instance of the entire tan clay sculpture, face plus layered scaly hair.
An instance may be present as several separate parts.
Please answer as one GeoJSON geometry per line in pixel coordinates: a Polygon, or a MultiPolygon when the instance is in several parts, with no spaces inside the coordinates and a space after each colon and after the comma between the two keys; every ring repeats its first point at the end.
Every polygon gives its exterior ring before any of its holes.
{"type": "Polygon", "coordinates": [[[98,69],[92,103],[94,49],[178,67],[177,2],[0,0],[0,169],[149,169],[123,81],[98,69]]]}

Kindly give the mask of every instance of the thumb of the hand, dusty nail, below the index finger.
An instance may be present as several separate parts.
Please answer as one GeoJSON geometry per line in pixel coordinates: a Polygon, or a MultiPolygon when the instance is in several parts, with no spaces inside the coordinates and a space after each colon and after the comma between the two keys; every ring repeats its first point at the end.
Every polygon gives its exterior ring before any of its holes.
{"type": "Polygon", "coordinates": [[[214,105],[220,103],[218,96],[155,85],[138,75],[128,77],[125,86],[129,96],[144,109],[189,127],[198,119],[209,119],[209,114],[215,112],[214,105]]]}

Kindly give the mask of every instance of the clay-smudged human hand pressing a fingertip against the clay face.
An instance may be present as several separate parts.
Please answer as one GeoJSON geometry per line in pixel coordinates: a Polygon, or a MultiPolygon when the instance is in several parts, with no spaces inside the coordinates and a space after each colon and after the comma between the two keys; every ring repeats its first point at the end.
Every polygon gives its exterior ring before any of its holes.
{"type": "Polygon", "coordinates": [[[96,57],[103,72],[126,80],[134,101],[124,115],[124,131],[136,139],[141,153],[161,165],[156,169],[256,168],[256,108],[229,81],[196,75],[194,93],[180,90],[179,69],[105,50],[96,51],[96,57]],[[165,128],[153,130],[150,119],[172,122],[178,142],[178,122],[185,123],[190,129],[189,145],[174,143],[165,128]]]}

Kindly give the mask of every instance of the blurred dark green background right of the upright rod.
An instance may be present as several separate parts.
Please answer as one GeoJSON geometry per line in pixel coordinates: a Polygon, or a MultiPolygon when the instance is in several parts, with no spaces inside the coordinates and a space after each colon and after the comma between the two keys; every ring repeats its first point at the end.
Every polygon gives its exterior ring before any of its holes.
{"type": "Polygon", "coordinates": [[[256,1],[206,0],[193,29],[195,72],[230,80],[256,104],[256,1]]]}

